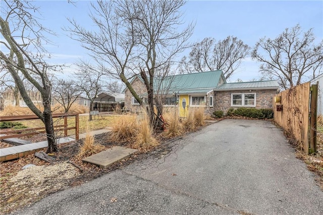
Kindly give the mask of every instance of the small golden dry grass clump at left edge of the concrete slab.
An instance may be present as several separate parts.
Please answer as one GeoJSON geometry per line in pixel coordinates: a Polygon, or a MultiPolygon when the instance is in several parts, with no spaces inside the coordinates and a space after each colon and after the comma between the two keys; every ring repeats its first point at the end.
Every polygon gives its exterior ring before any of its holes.
{"type": "Polygon", "coordinates": [[[105,147],[103,145],[94,143],[94,136],[90,134],[89,126],[87,126],[85,139],[83,140],[83,145],[80,147],[80,152],[77,157],[82,158],[84,156],[91,156],[92,154],[96,154],[104,149],[105,147]]]}

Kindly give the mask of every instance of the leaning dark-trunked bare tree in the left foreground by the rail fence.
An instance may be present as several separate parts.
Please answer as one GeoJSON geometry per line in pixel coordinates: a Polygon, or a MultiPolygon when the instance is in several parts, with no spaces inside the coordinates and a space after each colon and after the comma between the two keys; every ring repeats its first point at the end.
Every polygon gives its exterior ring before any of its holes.
{"type": "Polygon", "coordinates": [[[0,50],[1,64],[12,75],[19,92],[29,109],[45,125],[47,152],[57,151],[50,109],[51,84],[47,76],[50,67],[43,61],[45,49],[41,42],[47,31],[35,19],[38,8],[27,1],[4,1],[1,6],[0,32],[4,49],[0,50]],[[40,92],[44,111],[41,112],[28,96],[21,75],[40,92]]]}

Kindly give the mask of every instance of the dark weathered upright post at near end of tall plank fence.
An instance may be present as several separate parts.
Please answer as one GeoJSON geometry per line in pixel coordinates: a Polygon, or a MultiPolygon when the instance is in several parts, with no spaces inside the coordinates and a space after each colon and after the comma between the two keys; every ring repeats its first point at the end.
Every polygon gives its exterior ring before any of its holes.
{"type": "Polygon", "coordinates": [[[309,150],[316,152],[316,112],[317,112],[317,84],[311,86],[310,122],[309,122],[309,150]]]}

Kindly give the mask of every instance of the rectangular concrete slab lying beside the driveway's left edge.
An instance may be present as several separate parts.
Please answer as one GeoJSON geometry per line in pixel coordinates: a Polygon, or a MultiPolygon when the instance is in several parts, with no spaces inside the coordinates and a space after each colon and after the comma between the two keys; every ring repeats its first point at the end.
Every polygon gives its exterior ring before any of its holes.
{"type": "Polygon", "coordinates": [[[110,167],[119,160],[130,157],[130,155],[135,152],[138,152],[138,150],[133,148],[115,146],[113,148],[86,157],[82,159],[82,161],[97,165],[101,169],[104,169],[110,167]]]}

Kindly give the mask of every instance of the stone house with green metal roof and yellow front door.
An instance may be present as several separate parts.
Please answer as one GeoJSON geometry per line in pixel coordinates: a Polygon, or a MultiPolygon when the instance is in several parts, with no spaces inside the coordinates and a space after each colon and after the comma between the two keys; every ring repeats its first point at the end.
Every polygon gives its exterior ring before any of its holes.
{"type": "MultiPolygon", "coordinates": [[[[154,87],[158,79],[154,82],[154,87]],[[156,83],[155,83],[156,82],[156,83]]],[[[147,97],[143,80],[136,76],[130,82],[140,97],[147,97]]],[[[227,83],[221,70],[169,76],[163,80],[160,90],[165,92],[164,105],[175,106],[179,109],[181,117],[187,117],[192,108],[203,106],[205,112],[222,110],[227,112],[230,108],[273,108],[273,96],[277,93],[277,81],[255,81],[227,83]],[[167,87],[166,87],[167,86],[167,87]],[[178,97],[173,97],[173,92],[178,97]]],[[[134,99],[129,89],[124,90],[125,108],[131,111],[138,109],[139,103],[134,99]]]]}

